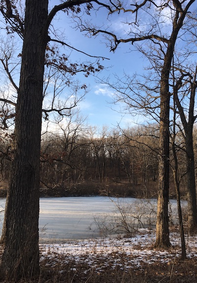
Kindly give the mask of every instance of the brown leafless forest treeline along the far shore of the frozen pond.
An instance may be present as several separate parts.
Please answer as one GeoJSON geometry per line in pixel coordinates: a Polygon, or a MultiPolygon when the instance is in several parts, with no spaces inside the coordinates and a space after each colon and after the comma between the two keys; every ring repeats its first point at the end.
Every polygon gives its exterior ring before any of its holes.
{"type": "MultiPolygon", "coordinates": [[[[135,126],[127,130],[103,127],[86,130],[72,125],[61,132],[45,133],[41,141],[40,195],[119,195],[157,197],[159,127],[135,126]]],[[[196,130],[194,141],[197,140],[196,130]]],[[[8,181],[12,139],[1,140],[1,179],[8,181]]],[[[196,146],[195,146],[196,149],[196,146]]],[[[186,158],[181,135],[176,151],[181,195],[186,198],[186,158]]],[[[195,152],[196,155],[196,152],[195,152]]],[[[170,155],[173,166],[173,156],[170,155]]],[[[170,197],[176,198],[170,171],[170,197]]]]}

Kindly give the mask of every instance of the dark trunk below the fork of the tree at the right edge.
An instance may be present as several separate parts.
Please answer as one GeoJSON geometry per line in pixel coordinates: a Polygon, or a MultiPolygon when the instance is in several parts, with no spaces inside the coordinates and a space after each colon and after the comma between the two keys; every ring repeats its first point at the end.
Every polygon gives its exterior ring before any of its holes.
{"type": "MultiPolygon", "coordinates": [[[[188,129],[187,129],[188,130],[188,129]]],[[[197,198],[195,181],[195,159],[193,130],[186,131],[186,162],[188,183],[188,228],[191,233],[197,230],[197,198]]]]}

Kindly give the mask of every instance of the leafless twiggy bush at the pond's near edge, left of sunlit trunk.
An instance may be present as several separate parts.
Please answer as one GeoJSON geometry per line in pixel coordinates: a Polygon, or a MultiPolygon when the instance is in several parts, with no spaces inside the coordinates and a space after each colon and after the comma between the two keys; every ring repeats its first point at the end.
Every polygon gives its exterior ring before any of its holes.
{"type": "MultiPolygon", "coordinates": [[[[151,230],[156,227],[157,200],[135,199],[131,203],[122,198],[110,198],[114,209],[110,213],[102,213],[94,216],[94,222],[100,235],[132,234],[140,228],[151,230]]],[[[184,215],[187,214],[187,206],[184,205],[184,215]]],[[[187,219],[185,224],[187,223],[187,219]]],[[[169,204],[170,227],[178,227],[178,212],[176,205],[169,204]]]]}

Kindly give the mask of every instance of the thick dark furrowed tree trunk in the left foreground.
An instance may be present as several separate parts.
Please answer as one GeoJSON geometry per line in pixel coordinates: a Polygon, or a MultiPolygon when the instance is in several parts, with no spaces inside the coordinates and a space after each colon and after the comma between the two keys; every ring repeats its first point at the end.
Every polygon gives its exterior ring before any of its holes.
{"type": "Polygon", "coordinates": [[[20,86],[16,107],[14,161],[8,190],[4,253],[6,280],[30,280],[39,274],[39,156],[44,56],[42,28],[48,0],[27,0],[20,86]]]}

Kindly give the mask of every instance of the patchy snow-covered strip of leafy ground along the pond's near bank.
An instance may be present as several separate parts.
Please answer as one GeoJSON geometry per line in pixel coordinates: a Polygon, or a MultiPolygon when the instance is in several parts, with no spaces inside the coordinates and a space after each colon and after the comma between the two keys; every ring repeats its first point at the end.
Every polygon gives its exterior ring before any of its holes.
{"type": "MultiPolygon", "coordinates": [[[[152,248],[155,242],[155,231],[140,231],[133,237],[99,238],[64,244],[41,244],[41,260],[48,257],[54,260],[54,264],[60,256],[64,263],[75,261],[75,264],[87,263],[89,268],[100,272],[107,266],[115,268],[140,268],[144,263],[168,263],[173,262],[181,254],[180,239],[177,233],[170,234],[172,248],[170,250],[157,250],[152,248]],[[124,255],[124,264],[121,261],[124,255]],[[103,259],[100,266],[100,260],[103,259]],[[121,262],[120,262],[121,261],[121,262]]],[[[187,257],[197,257],[197,237],[186,236],[187,257]]],[[[74,268],[74,267],[73,267],[74,268]]]]}

